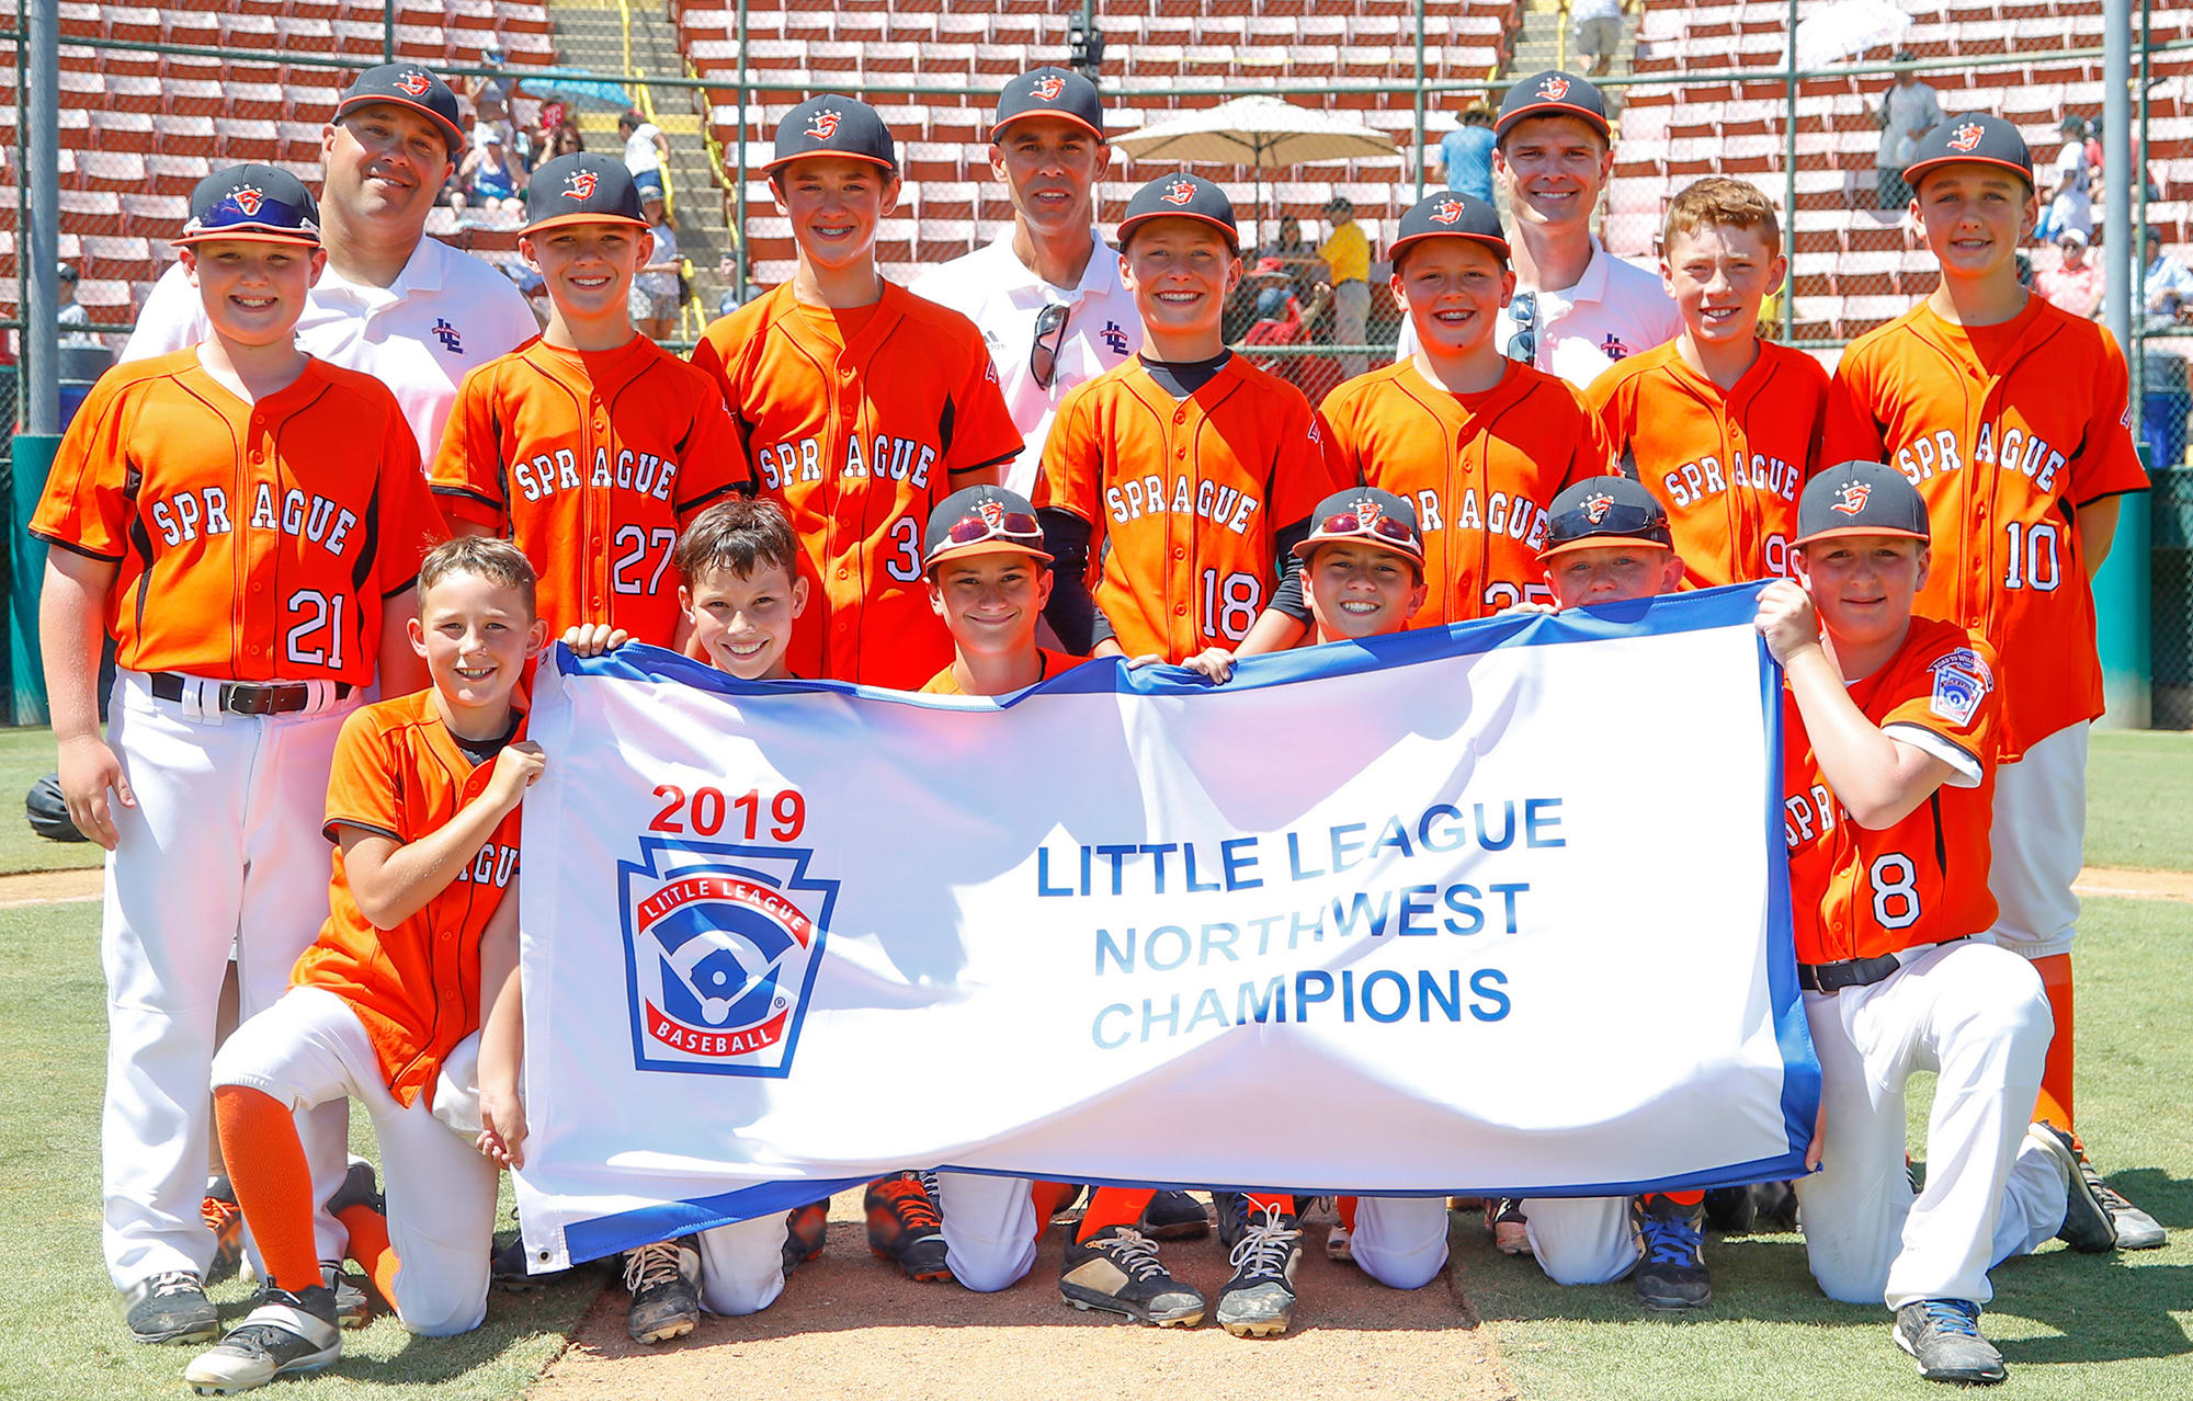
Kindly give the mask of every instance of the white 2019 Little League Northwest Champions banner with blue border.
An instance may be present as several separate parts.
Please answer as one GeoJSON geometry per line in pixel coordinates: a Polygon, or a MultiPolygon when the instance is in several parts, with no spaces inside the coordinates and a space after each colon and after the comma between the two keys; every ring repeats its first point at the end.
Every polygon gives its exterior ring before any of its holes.
{"type": "Polygon", "coordinates": [[[1007,702],[542,664],[539,1265],[895,1169],[1614,1195],[1800,1171],[1757,588],[1007,702]]]}

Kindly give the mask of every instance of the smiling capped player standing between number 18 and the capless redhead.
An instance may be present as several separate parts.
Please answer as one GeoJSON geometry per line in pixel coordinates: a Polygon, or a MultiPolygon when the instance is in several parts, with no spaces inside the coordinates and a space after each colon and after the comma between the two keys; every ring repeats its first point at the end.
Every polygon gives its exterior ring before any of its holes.
{"type": "Polygon", "coordinates": [[[1546,504],[1607,474],[1583,397],[1500,353],[1493,320],[1513,289],[1493,208],[1445,191],[1423,200],[1393,241],[1393,294],[1417,351],[1349,379],[1320,410],[1342,476],[1417,506],[1430,579],[1417,625],[1542,601],[1546,504]]]}

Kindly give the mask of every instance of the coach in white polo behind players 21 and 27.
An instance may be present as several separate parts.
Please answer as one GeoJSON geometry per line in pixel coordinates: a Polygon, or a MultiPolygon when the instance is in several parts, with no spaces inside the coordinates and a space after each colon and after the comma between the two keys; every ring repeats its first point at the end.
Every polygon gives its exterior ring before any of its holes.
{"type": "MultiPolygon", "coordinates": [[[[456,386],[474,366],[539,333],[511,278],[425,237],[434,193],[465,149],[456,94],[417,64],[366,68],[320,136],[327,272],[305,300],[298,344],[373,375],[397,397],[432,463],[456,386]]],[[[206,338],[197,289],[169,267],[145,298],[123,360],[206,338]]]]}

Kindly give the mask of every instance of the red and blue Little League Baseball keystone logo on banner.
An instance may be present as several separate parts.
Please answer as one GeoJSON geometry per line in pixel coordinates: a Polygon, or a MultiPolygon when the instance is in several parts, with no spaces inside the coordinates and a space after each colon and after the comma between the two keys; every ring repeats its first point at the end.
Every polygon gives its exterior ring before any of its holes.
{"type": "Polygon", "coordinates": [[[636,1070],[792,1072],[838,903],[838,881],[805,877],[809,857],[640,838],[640,859],[618,862],[636,1070]]]}

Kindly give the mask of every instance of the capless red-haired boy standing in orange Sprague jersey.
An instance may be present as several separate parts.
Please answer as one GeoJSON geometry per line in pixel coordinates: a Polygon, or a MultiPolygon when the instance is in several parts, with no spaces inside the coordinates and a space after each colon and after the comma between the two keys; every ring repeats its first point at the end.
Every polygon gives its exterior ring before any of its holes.
{"type": "Polygon", "coordinates": [[[1759,338],[1759,305],[1785,272],[1765,195],[1719,175],[1686,186],[1660,254],[1682,335],[1614,362],[1586,392],[1623,474],[1667,506],[1693,588],[1789,572],[1827,371],[1759,338]]]}

